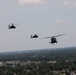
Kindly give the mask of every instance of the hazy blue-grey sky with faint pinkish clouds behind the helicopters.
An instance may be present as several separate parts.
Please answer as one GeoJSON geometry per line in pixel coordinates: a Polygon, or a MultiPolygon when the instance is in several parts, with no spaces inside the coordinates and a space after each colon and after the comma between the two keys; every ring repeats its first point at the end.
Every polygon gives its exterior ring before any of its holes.
{"type": "Polygon", "coordinates": [[[72,47],[75,40],[76,0],[0,0],[0,52],[72,47]],[[15,30],[8,29],[11,23],[18,24],[15,30]],[[55,45],[41,39],[59,34],[66,35],[55,45]]]}

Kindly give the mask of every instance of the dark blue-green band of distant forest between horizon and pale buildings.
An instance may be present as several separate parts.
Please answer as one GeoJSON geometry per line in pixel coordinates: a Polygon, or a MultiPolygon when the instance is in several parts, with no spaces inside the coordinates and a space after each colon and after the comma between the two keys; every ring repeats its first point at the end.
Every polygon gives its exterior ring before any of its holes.
{"type": "Polygon", "coordinates": [[[0,54],[0,61],[65,61],[76,60],[76,47],[43,49],[0,54]]]}

